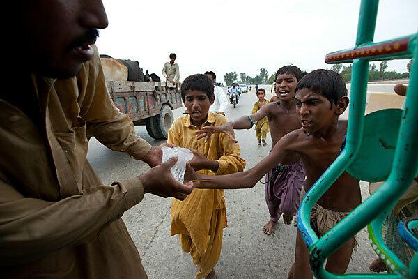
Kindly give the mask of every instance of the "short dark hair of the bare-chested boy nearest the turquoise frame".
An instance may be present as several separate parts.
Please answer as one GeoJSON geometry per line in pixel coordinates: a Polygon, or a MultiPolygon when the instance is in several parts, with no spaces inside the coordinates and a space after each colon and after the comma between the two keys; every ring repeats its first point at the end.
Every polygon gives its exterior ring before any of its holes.
{"type": "Polygon", "coordinates": [[[295,91],[308,89],[315,93],[323,95],[332,104],[338,103],[338,100],[347,96],[347,86],[341,75],[333,70],[318,69],[302,77],[297,84],[295,91]]]}

